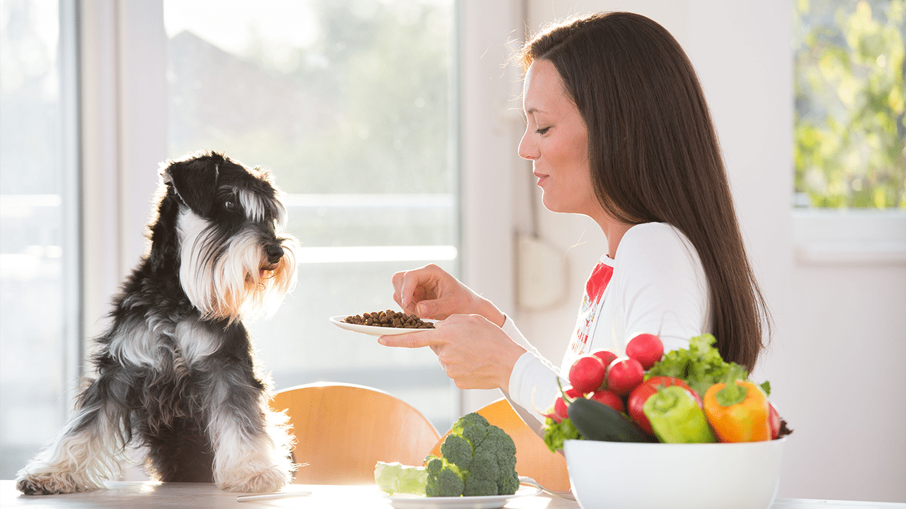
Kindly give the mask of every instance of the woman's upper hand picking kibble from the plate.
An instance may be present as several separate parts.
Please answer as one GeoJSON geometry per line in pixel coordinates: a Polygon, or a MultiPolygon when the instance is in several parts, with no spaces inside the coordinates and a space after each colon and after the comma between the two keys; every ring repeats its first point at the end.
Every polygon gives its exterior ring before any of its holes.
{"type": "Polygon", "coordinates": [[[496,306],[435,264],[393,274],[393,300],[419,318],[444,320],[453,314],[480,314],[502,327],[506,317],[496,306]]]}

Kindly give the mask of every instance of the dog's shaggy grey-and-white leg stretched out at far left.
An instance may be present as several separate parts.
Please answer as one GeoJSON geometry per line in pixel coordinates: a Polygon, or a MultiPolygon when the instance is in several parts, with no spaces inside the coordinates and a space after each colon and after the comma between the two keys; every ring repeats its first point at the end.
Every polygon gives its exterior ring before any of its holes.
{"type": "Polygon", "coordinates": [[[102,374],[79,398],[74,415],[49,447],[16,476],[26,495],[90,491],[121,474],[120,461],[130,434],[127,413],[113,395],[125,390],[112,373],[102,374]]]}

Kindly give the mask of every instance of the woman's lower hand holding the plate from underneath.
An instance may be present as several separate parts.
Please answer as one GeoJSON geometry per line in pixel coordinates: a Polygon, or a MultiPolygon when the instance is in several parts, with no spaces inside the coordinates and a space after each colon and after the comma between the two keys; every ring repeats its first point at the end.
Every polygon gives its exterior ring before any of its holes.
{"type": "Polygon", "coordinates": [[[431,347],[459,389],[509,390],[513,366],[525,353],[506,332],[477,314],[454,314],[435,323],[435,329],[381,336],[378,341],[394,347],[431,347]]]}

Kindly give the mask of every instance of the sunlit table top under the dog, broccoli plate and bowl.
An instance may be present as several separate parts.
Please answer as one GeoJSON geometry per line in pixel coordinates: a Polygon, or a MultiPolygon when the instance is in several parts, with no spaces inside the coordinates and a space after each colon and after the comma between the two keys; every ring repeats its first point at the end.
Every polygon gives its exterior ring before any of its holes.
{"type": "MultiPolygon", "coordinates": [[[[66,495],[23,495],[12,480],[0,481],[2,508],[68,508],[68,509],[160,509],[186,507],[191,509],[392,509],[398,507],[393,499],[377,485],[288,485],[279,497],[242,500],[255,494],[236,494],[206,483],[159,483],[154,481],[115,481],[106,489],[66,495]]],[[[423,504],[407,503],[406,507],[443,507],[430,499],[423,504]]],[[[558,495],[526,495],[512,499],[506,509],[577,509],[578,502],[558,495]]],[[[592,508],[586,508],[592,509],[592,508]]],[[[906,504],[890,502],[856,502],[845,500],[813,500],[778,498],[772,509],[906,509],[906,504]]]]}

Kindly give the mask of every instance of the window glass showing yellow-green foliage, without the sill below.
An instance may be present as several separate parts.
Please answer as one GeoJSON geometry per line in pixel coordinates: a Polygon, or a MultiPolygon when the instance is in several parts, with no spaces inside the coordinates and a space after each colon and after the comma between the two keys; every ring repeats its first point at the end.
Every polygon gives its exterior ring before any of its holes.
{"type": "Polygon", "coordinates": [[[906,209],[904,5],[795,2],[797,206],[906,209]]]}

